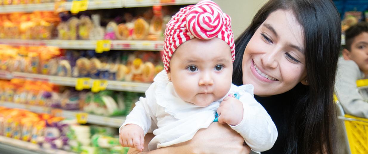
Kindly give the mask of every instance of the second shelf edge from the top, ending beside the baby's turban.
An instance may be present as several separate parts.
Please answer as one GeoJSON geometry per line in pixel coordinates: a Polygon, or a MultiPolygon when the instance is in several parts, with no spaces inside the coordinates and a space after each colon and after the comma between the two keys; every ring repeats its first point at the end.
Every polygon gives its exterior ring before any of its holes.
{"type": "MultiPolygon", "coordinates": [[[[0,39],[0,44],[12,46],[56,46],[62,49],[95,50],[97,40],[20,40],[0,39]]],[[[163,50],[163,41],[111,40],[110,50],[163,50]]]]}

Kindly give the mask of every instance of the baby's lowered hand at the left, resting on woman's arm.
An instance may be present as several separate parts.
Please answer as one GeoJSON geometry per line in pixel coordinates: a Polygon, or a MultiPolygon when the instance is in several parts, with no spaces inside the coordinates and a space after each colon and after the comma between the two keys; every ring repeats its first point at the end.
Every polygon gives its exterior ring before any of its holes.
{"type": "Polygon", "coordinates": [[[120,131],[119,142],[123,147],[135,147],[137,151],[142,152],[144,149],[144,131],[135,124],[125,125],[120,131]]]}

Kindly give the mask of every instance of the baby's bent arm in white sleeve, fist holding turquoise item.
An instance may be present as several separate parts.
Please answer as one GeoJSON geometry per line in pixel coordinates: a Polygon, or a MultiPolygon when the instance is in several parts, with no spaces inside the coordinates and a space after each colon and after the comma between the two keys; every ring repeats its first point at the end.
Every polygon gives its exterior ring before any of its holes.
{"type": "Polygon", "coordinates": [[[240,133],[253,151],[266,151],[275,144],[277,139],[275,123],[250,93],[241,95],[239,100],[226,97],[221,104],[217,109],[219,122],[220,120],[226,122],[240,133]]]}

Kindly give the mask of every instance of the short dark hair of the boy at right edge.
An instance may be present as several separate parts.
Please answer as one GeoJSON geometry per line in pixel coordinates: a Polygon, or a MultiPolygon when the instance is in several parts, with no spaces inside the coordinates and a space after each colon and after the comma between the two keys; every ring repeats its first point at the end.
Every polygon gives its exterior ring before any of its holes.
{"type": "Polygon", "coordinates": [[[359,22],[358,24],[351,26],[345,31],[345,49],[351,51],[351,44],[356,36],[363,32],[368,32],[368,22],[359,22]]]}

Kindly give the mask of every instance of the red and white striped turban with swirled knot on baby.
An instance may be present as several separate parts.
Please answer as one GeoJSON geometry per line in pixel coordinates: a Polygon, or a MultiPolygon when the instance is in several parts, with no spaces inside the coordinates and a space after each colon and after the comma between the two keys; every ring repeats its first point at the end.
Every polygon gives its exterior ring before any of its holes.
{"type": "Polygon", "coordinates": [[[202,0],[196,5],[181,8],[166,26],[162,57],[166,72],[177,47],[194,37],[202,40],[217,37],[224,40],[230,46],[231,59],[234,62],[235,46],[231,18],[222,12],[215,2],[202,0]]]}

